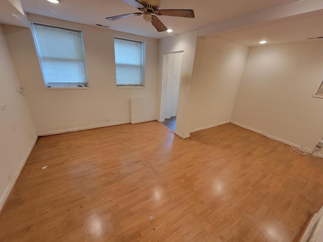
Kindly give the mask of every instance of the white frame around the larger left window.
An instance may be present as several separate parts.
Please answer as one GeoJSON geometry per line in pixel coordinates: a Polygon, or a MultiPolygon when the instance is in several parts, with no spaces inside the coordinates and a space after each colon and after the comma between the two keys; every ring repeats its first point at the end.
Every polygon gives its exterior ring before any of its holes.
{"type": "Polygon", "coordinates": [[[43,24],[43,23],[38,23],[38,22],[30,22],[30,29],[31,29],[33,40],[34,40],[34,46],[35,46],[35,49],[36,49],[36,52],[37,52],[38,62],[39,62],[39,66],[40,66],[40,69],[41,69],[41,74],[42,74],[42,77],[43,77],[43,82],[44,82],[44,85],[45,85],[45,89],[46,90],[78,90],[78,89],[86,90],[86,89],[90,89],[88,72],[87,72],[85,48],[84,48],[83,32],[81,30],[77,30],[77,29],[65,28],[65,27],[49,25],[49,24],[43,24]],[[82,42],[82,50],[83,50],[83,55],[84,55],[84,66],[85,66],[84,71],[85,71],[86,83],[85,82],[82,82],[82,83],[77,83],[77,82],[48,83],[46,81],[46,76],[45,76],[45,73],[44,73],[44,70],[43,70],[42,57],[41,57],[40,52],[39,52],[39,47],[38,47],[38,44],[37,44],[37,38],[36,38],[35,30],[34,30],[34,24],[49,27],[49,28],[62,29],[62,30],[68,30],[68,31],[73,31],[73,32],[80,33],[81,42],[82,42]]]}

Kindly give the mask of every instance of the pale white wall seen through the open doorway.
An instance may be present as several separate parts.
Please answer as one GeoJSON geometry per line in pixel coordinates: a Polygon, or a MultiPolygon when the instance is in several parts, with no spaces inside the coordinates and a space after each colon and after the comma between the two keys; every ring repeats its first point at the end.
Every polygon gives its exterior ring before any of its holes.
{"type": "Polygon", "coordinates": [[[165,118],[177,114],[183,52],[169,54],[165,118]]]}

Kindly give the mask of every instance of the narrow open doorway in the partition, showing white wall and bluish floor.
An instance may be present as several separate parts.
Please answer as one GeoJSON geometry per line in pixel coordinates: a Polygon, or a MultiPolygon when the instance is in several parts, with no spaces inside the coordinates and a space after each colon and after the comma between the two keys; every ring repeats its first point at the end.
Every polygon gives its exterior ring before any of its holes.
{"type": "Polygon", "coordinates": [[[166,102],[165,102],[165,122],[161,124],[175,131],[176,115],[178,106],[178,96],[180,90],[181,71],[183,62],[183,51],[164,55],[168,62],[164,62],[163,79],[167,82],[166,102]]]}

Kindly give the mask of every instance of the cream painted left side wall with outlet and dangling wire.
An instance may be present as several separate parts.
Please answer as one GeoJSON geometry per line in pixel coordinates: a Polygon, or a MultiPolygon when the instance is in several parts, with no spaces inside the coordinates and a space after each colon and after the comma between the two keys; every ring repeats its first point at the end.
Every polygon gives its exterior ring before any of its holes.
{"type": "Polygon", "coordinates": [[[10,52],[0,27],[0,209],[15,184],[35,141],[36,132],[10,52]]]}

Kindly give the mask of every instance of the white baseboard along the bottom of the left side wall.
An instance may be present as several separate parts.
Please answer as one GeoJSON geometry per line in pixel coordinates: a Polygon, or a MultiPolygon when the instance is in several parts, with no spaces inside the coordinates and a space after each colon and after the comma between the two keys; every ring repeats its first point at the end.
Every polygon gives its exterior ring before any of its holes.
{"type": "Polygon", "coordinates": [[[31,143],[31,146],[29,147],[25,157],[23,158],[22,162],[20,163],[14,177],[12,178],[11,180],[11,183],[7,186],[4,194],[2,195],[2,197],[0,198],[0,215],[4,209],[4,207],[6,206],[9,198],[10,198],[10,195],[13,191],[13,189],[15,188],[16,184],[17,184],[17,181],[18,181],[18,178],[20,177],[20,174],[21,172],[24,170],[25,168],[25,165],[26,165],[26,162],[32,152],[32,150],[34,149],[36,143],[37,143],[37,140],[38,140],[38,136],[36,135],[34,137],[34,140],[32,141],[31,143]]]}

